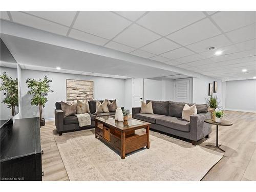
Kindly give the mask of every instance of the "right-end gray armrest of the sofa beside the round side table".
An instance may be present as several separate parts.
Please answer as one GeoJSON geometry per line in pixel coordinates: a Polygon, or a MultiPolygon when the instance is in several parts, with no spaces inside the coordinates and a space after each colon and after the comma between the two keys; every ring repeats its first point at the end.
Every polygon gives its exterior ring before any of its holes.
{"type": "Polygon", "coordinates": [[[191,140],[198,141],[211,133],[211,124],[205,123],[205,119],[210,119],[211,113],[199,113],[190,116],[190,137],[191,140]]]}

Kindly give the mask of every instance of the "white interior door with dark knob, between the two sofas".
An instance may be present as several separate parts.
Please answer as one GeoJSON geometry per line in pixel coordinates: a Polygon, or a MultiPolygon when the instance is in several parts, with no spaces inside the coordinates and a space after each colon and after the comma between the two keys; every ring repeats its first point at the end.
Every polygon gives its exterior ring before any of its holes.
{"type": "Polygon", "coordinates": [[[133,79],[133,107],[141,106],[144,99],[144,83],[142,78],[133,79]]]}

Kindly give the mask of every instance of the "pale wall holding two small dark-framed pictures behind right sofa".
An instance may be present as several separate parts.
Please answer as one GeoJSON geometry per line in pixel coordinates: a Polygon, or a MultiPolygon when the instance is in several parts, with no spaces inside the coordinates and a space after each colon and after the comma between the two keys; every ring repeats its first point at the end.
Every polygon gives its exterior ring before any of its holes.
{"type": "MultiPolygon", "coordinates": [[[[217,95],[218,100],[221,102],[222,92],[222,81],[220,79],[201,75],[200,78],[193,78],[193,103],[205,103],[208,96],[209,83],[218,82],[218,92],[214,93],[217,95]]],[[[222,103],[220,103],[222,105],[222,103]]]]}

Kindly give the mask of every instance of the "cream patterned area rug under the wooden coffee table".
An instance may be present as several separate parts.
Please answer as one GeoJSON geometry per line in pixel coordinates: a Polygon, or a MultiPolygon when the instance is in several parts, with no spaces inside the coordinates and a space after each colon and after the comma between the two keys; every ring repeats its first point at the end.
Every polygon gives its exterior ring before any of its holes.
{"type": "Polygon", "coordinates": [[[95,139],[94,130],[54,137],[71,181],[200,181],[223,157],[152,131],[150,149],[142,148],[124,160],[95,139]]]}

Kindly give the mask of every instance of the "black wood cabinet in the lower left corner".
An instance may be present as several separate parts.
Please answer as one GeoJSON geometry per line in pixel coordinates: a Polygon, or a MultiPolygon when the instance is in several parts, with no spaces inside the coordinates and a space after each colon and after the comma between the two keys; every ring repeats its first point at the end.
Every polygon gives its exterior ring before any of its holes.
{"type": "Polygon", "coordinates": [[[39,118],[16,119],[0,131],[1,181],[41,181],[39,118]]]}

